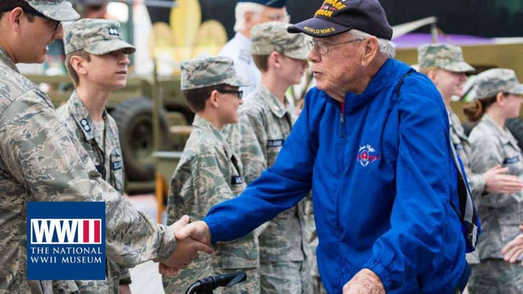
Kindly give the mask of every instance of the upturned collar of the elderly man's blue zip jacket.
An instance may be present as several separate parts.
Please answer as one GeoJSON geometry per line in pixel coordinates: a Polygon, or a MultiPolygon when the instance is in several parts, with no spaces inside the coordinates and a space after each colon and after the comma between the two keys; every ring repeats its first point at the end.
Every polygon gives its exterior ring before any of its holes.
{"type": "Polygon", "coordinates": [[[389,83],[389,78],[394,74],[395,69],[393,69],[393,67],[394,62],[389,58],[372,77],[372,80],[363,93],[358,95],[348,92],[345,95],[345,111],[354,111],[363,104],[367,104],[369,101],[376,98],[376,94],[389,83]]]}

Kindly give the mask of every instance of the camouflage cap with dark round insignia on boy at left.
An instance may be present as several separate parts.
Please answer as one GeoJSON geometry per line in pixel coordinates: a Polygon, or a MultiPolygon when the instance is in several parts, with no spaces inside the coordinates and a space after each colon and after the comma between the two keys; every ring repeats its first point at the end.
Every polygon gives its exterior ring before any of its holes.
{"type": "Polygon", "coordinates": [[[83,18],[64,26],[65,54],[85,50],[94,55],[103,55],[124,49],[132,54],[136,49],[120,37],[120,23],[111,19],[83,18]]]}

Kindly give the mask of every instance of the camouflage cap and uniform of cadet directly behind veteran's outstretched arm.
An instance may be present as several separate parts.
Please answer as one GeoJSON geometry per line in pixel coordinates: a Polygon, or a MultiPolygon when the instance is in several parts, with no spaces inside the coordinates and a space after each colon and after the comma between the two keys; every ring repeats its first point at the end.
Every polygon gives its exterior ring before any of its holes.
{"type": "MultiPolygon", "coordinates": [[[[274,51],[290,58],[306,60],[308,50],[302,34],[287,32],[289,24],[266,22],[252,30],[253,55],[268,55],[274,51]]],[[[240,127],[232,128],[228,137],[232,145],[240,146],[239,153],[244,165],[247,183],[256,179],[261,172],[276,161],[276,157],[291,132],[297,119],[294,107],[287,103],[282,105],[262,83],[255,92],[249,94],[240,110],[240,127]],[[243,131],[238,134],[237,130],[243,131]],[[245,133],[254,133],[253,136],[245,133]],[[263,158],[256,156],[252,150],[261,150],[263,158]]],[[[314,251],[309,250],[305,240],[307,226],[309,236],[315,235],[314,223],[306,223],[305,201],[280,213],[268,222],[259,235],[260,275],[263,293],[311,293],[311,266],[314,251]],[[305,253],[308,253],[306,259],[305,253]]],[[[310,201],[310,198],[309,198],[310,201]]],[[[309,212],[312,214],[312,205],[309,212]]],[[[317,238],[317,237],[316,237],[317,238]]],[[[314,239],[311,241],[314,242],[314,239]]]]}

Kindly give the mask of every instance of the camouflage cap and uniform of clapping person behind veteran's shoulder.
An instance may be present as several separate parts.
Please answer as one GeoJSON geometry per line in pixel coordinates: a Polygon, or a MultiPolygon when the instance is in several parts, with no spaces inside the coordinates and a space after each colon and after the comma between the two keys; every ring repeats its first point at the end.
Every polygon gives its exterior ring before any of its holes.
{"type": "MultiPolygon", "coordinates": [[[[474,67],[464,61],[461,48],[449,44],[426,44],[418,47],[418,66],[422,70],[438,67],[457,73],[474,71],[474,67]]],[[[447,108],[447,114],[449,115],[450,141],[463,162],[472,194],[481,195],[486,184],[482,174],[474,174],[470,169],[469,139],[465,135],[458,116],[450,107],[447,108]]],[[[479,263],[477,251],[467,254],[467,261],[469,264],[479,263]]]]}

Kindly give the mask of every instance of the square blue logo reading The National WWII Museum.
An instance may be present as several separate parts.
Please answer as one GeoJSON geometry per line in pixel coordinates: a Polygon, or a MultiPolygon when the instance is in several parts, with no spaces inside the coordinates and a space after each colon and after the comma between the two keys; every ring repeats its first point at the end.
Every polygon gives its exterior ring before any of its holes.
{"type": "Polygon", "coordinates": [[[105,202],[28,202],[27,279],[105,279],[105,202]]]}

